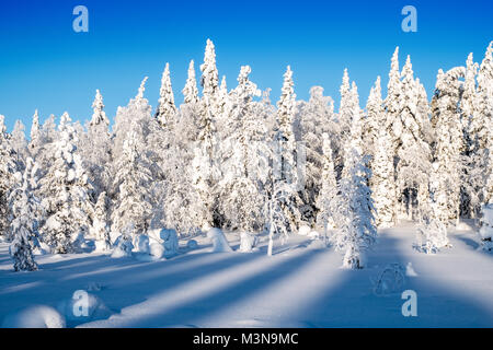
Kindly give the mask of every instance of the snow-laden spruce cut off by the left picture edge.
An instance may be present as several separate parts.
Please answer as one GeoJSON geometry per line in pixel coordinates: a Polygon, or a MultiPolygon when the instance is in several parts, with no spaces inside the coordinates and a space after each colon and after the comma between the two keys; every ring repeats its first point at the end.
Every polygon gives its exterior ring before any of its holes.
{"type": "Polygon", "coordinates": [[[10,144],[4,125],[4,116],[0,115],[0,236],[10,241],[9,192],[15,185],[16,164],[14,151],[10,144]]]}

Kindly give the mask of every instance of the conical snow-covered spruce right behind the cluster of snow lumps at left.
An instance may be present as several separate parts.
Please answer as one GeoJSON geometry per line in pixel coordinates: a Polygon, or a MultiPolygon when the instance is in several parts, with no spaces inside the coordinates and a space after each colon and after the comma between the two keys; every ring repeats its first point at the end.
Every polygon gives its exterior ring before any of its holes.
{"type": "MultiPolygon", "coordinates": [[[[136,126],[131,126],[136,129],[136,126]]],[[[150,224],[152,206],[150,202],[150,185],[152,174],[145,153],[139,152],[137,132],[127,133],[122,154],[116,159],[113,187],[116,196],[112,212],[112,231],[121,232],[131,226],[131,238],[146,234],[150,224]]]]}

